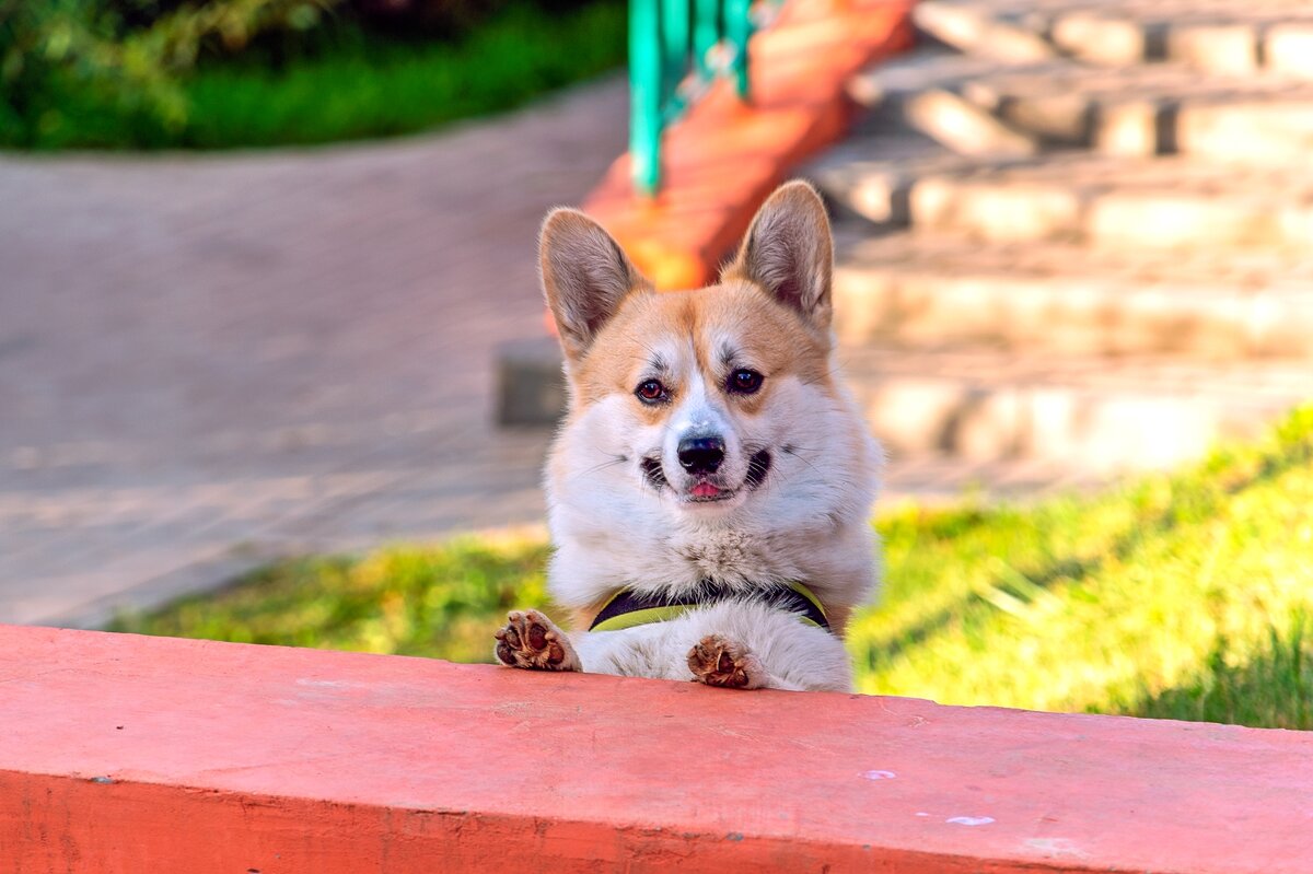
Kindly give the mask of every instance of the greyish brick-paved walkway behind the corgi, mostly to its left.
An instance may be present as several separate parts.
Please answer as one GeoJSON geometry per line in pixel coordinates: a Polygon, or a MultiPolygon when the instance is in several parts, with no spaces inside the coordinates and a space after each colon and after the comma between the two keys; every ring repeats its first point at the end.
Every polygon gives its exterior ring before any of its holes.
{"type": "Polygon", "coordinates": [[[540,520],[548,434],[492,427],[494,350],[541,333],[538,222],[624,148],[625,102],[612,79],[385,144],[0,159],[0,622],[540,520]]]}

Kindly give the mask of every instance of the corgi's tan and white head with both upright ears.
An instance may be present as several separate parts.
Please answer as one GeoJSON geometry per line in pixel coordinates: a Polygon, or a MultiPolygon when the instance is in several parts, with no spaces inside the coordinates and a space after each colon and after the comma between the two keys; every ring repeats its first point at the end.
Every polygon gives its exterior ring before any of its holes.
{"type": "Polygon", "coordinates": [[[701,290],[654,291],[574,210],[548,217],[540,255],[566,353],[562,463],[575,487],[620,487],[710,520],[776,484],[815,499],[815,474],[834,472],[826,462],[860,454],[840,445],[865,440],[860,425],[859,436],[826,433],[836,416],[853,427],[830,370],[830,224],[805,182],[765,202],[720,282],[701,290]],[[827,458],[831,447],[840,457],[827,458]]]}

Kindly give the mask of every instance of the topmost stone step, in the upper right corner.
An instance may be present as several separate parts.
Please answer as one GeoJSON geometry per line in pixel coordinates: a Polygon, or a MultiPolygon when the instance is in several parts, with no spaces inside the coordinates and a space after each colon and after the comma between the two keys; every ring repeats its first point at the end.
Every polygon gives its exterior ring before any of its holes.
{"type": "Polygon", "coordinates": [[[1216,73],[1313,79],[1304,0],[923,0],[918,26],[962,51],[1029,62],[1045,51],[1104,64],[1179,60],[1216,73]]]}

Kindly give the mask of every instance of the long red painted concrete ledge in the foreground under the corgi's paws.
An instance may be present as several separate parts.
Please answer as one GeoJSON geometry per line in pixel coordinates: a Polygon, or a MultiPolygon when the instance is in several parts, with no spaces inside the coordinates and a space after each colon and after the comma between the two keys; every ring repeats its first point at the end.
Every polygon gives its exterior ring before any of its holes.
{"type": "Polygon", "coordinates": [[[0,871],[1313,870],[1313,734],[0,626],[0,871]]]}

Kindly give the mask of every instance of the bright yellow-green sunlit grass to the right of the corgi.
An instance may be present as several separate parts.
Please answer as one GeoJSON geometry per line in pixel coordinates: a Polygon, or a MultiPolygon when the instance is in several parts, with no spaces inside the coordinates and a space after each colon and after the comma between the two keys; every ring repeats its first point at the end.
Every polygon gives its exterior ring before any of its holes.
{"type": "Polygon", "coordinates": [[[1288,657],[1313,602],[1310,457],[1304,412],[1263,446],[1096,499],[888,520],[888,610],[851,635],[861,690],[1192,718],[1186,690],[1253,686],[1246,665],[1267,659],[1292,669],[1249,694],[1302,699],[1288,724],[1313,727],[1288,657]]]}

